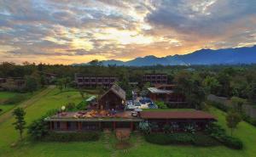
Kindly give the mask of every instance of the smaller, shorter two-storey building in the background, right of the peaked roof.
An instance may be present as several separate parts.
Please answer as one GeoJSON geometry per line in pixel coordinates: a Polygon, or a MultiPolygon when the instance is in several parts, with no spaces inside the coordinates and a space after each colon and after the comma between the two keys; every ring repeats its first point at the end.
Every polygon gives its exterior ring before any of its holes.
{"type": "Polygon", "coordinates": [[[146,74],[143,76],[143,81],[149,81],[151,84],[167,84],[168,79],[166,74],[146,74]]]}

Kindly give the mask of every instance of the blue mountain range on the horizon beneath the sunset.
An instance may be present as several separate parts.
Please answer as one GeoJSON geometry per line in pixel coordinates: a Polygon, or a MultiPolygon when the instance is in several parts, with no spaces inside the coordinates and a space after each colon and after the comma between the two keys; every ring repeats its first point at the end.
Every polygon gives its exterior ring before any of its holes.
{"type": "Polygon", "coordinates": [[[139,57],[126,62],[103,60],[102,64],[118,66],[190,65],[190,64],[253,64],[256,63],[256,45],[250,48],[201,49],[194,53],[157,58],[153,55],[139,57]]]}

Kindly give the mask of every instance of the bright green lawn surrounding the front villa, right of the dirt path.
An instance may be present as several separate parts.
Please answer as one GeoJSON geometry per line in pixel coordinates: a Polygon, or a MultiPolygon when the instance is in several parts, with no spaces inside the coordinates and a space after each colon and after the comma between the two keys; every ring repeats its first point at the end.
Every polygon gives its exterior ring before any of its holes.
{"type": "MultiPolygon", "coordinates": [[[[32,97],[33,103],[26,108],[26,121],[29,124],[32,120],[44,115],[49,109],[55,109],[67,102],[79,103],[81,96],[78,92],[59,93],[58,89],[48,88],[38,93],[40,97],[32,97]],[[43,93],[43,94],[42,94],[43,93]]],[[[26,102],[24,102],[26,103],[26,102]]],[[[211,108],[211,113],[218,117],[218,123],[225,126],[224,112],[211,108]]],[[[0,119],[3,115],[0,115],[0,119]]],[[[195,146],[160,146],[139,140],[136,136],[131,137],[134,146],[127,151],[115,150],[112,148],[113,136],[110,137],[111,146],[108,148],[101,137],[97,142],[89,143],[34,143],[28,139],[19,144],[15,148],[11,148],[10,144],[18,139],[18,132],[14,130],[11,123],[14,121],[10,118],[0,123],[0,156],[3,157],[55,157],[55,156],[85,156],[85,157],[141,157],[141,156],[164,156],[164,157],[254,157],[256,156],[256,127],[241,122],[234,132],[234,136],[239,137],[245,145],[242,150],[228,149],[224,146],[217,147],[195,147],[195,146]],[[112,142],[111,142],[112,141],[112,142]]]]}

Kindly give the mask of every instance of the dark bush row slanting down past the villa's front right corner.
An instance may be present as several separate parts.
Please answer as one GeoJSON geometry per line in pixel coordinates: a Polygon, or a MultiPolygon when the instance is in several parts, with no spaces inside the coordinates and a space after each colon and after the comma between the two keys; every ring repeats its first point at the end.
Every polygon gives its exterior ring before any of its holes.
{"type": "Polygon", "coordinates": [[[225,146],[229,147],[230,149],[242,149],[243,144],[240,139],[236,137],[230,137],[226,134],[221,126],[218,126],[215,123],[211,123],[207,126],[206,129],[207,134],[211,137],[214,137],[218,140],[218,142],[223,143],[225,146]]]}

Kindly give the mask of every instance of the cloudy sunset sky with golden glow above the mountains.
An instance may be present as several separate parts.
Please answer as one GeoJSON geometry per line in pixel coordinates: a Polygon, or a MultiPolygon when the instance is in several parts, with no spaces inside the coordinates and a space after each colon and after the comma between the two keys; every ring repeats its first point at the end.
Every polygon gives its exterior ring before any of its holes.
{"type": "Polygon", "coordinates": [[[0,62],[125,61],[255,44],[255,0],[0,0],[0,62]]]}

